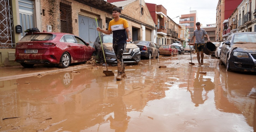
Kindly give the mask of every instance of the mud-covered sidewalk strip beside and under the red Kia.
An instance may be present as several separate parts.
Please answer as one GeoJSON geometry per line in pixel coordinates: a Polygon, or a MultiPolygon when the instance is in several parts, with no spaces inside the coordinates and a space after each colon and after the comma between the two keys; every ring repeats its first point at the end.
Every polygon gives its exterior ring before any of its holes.
{"type": "MultiPolygon", "coordinates": [[[[12,67],[0,67],[0,81],[25,78],[34,75],[44,75],[54,72],[61,71],[72,71],[76,69],[82,69],[86,67],[91,67],[91,64],[75,64],[67,68],[58,68],[57,66],[50,65],[35,65],[34,68],[23,68],[22,66],[12,66],[12,67]]],[[[95,66],[95,65],[94,65],[95,66]]]]}

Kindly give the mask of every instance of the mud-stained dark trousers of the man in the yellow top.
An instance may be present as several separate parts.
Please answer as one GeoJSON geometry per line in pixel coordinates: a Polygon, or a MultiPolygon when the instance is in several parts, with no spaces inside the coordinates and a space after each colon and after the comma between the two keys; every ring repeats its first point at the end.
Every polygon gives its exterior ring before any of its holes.
{"type": "Polygon", "coordinates": [[[123,44],[113,44],[114,52],[117,58],[117,73],[125,73],[124,72],[124,63],[123,63],[123,52],[126,47],[126,43],[123,44]]]}

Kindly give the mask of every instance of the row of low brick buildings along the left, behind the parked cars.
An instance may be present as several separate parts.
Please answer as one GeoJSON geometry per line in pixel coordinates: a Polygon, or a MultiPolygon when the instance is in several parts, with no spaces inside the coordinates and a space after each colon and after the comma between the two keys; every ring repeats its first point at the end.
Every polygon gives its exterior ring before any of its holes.
{"type": "MultiPolygon", "coordinates": [[[[75,34],[91,46],[98,31],[96,21],[102,29],[108,28],[112,20],[112,9],[119,7],[104,0],[3,0],[0,1],[1,19],[0,66],[20,65],[15,60],[15,43],[25,30],[37,27],[41,32],[66,32],[75,34]]],[[[127,0],[122,3],[121,18],[129,23],[135,40],[156,40],[156,28],[143,0],[127,0]]],[[[117,4],[117,3],[116,3],[117,4]]],[[[134,40],[133,40],[134,41],[134,40]]]]}

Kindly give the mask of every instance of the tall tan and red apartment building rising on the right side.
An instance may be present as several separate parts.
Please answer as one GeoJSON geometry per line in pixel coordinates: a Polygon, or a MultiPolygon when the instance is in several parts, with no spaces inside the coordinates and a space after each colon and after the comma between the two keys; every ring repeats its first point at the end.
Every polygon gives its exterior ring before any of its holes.
{"type": "Polygon", "coordinates": [[[227,34],[228,19],[242,0],[219,0],[216,13],[216,41],[223,41],[223,35],[227,34]],[[226,30],[226,31],[225,31],[226,30]]]}

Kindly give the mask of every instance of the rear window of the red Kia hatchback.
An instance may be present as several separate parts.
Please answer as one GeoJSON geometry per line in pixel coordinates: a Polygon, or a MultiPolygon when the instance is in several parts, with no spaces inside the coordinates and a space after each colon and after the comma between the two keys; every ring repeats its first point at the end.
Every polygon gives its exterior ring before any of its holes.
{"type": "Polygon", "coordinates": [[[45,41],[55,38],[53,34],[29,34],[25,35],[20,41],[45,41]]]}

